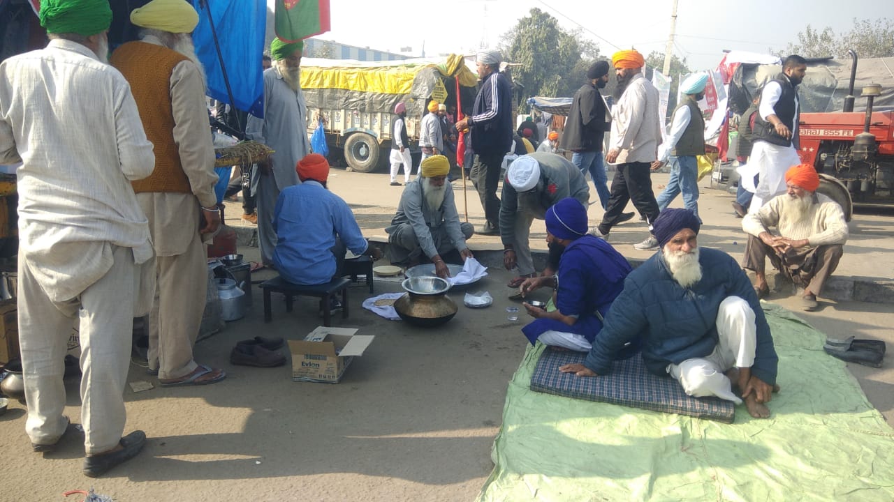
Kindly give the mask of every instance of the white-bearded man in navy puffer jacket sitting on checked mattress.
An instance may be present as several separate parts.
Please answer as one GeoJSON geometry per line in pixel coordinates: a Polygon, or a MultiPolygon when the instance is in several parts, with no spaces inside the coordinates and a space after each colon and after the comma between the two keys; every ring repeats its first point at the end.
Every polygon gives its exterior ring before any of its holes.
{"type": "Polygon", "coordinates": [[[688,209],[665,209],[653,223],[661,250],[627,276],[584,364],[561,372],[611,372],[624,344],[640,338],[649,372],[670,374],[689,396],[714,396],[767,418],[779,358],[746,273],[730,255],[698,247],[688,209]],[[735,384],[739,394],[735,394],[735,384]]]}

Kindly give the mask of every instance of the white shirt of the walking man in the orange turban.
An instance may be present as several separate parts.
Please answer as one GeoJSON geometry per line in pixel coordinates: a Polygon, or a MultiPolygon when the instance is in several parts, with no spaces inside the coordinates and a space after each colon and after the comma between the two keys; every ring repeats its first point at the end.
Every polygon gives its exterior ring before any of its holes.
{"type": "Polygon", "coordinates": [[[620,150],[614,163],[651,163],[657,159],[662,123],[658,116],[658,90],[637,73],[611,108],[609,147],[620,150]]]}

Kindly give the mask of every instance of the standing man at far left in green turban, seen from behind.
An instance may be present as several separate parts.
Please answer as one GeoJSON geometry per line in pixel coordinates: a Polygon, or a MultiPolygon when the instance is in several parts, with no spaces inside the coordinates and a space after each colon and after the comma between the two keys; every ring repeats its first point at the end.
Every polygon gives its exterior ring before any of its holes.
{"type": "Polygon", "coordinates": [[[106,63],[108,2],[42,0],[39,18],[46,48],[0,63],[0,163],[22,163],[25,431],[35,452],[50,452],[74,430],[63,415],[63,333],[80,318],[83,473],[96,477],[146,443],[143,431],[122,436],[122,392],[132,319],[148,313],[155,289],[152,242],[131,180],[151,174],[155,158],[127,80],[106,63]]]}

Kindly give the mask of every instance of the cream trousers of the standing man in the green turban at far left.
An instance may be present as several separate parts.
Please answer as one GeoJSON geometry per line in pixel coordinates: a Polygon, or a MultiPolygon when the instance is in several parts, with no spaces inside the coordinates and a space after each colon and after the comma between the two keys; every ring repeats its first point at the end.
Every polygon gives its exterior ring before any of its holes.
{"type": "Polygon", "coordinates": [[[80,421],[84,451],[118,445],[124,431],[124,385],[131,365],[131,330],[139,297],[139,266],[130,247],[112,246],[105,275],[64,302],[50,300],[19,255],[19,336],[28,420],[34,444],[53,444],[65,431],[63,359],[72,323],[80,317],[80,421]]]}

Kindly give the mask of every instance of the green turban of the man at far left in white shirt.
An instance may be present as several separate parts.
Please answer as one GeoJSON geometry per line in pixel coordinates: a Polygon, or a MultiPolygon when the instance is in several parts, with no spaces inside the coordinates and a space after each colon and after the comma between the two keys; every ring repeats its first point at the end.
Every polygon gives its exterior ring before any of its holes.
{"type": "Polygon", "coordinates": [[[41,0],[40,26],[47,33],[101,33],[112,24],[108,0],[41,0]]]}

